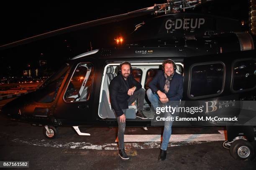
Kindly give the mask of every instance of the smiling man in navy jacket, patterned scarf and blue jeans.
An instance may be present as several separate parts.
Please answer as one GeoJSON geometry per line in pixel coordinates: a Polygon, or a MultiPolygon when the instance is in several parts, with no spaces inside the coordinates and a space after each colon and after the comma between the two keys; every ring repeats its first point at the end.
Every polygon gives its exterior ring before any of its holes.
{"type": "MultiPolygon", "coordinates": [[[[182,99],[183,77],[175,72],[176,65],[174,61],[168,59],[162,63],[162,70],[159,71],[154,79],[148,84],[147,96],[152,107],[157,110],[159,103],[171,103],[171,107],[176,107],[182,99]],[[173,106],[172,106],[173,105],[173,106]]],[[[172,116],[169,112],[165,117],[172,116]]],[[[164,122],[163,141],[160,147],[159,159],[166,159],[166,150],[169,139],[172,134],[173,121],[164,122]]]]}

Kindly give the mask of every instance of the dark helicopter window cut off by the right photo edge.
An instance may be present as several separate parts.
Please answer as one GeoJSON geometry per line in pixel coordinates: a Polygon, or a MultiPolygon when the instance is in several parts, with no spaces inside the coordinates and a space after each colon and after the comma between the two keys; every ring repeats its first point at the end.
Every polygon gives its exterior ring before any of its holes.
{"type": "Polygon", "coordinates": [[[233,64],[233,75],[233,90],[254,88],[256,86],[256,61],[236,61],[233,64]]]}

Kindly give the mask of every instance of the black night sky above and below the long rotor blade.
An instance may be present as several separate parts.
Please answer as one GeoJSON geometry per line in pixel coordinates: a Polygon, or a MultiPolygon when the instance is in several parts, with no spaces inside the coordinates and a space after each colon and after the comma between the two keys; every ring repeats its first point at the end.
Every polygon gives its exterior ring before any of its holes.
{"type": "MultiPolygon", "coordinates": [[[[5,3],[0,7],[0,45],[59,28],[150,7],[155,3],[166,3],[165,0],[113,2],[5,3]]],[[[215,0],[199,8],[198,12],[247,20],[248,1],[215,0]]],[[[90,50],[90,42],[93,49],[109,46],[114,43],[115,36],[127,37],[136,24],[147,19],[140,17],[100,25],[2,50],[0,51],[0,78],[9,74],[22,76],[22,71],[28,64],[36,67],[40,59],[47,60],[49,68],[57,69],[67,58],[90,50]]]]}

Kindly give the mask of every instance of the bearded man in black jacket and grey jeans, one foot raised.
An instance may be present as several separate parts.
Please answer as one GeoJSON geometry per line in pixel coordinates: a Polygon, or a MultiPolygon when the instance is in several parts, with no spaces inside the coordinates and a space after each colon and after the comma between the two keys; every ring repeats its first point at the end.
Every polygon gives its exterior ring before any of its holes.
{"type": "Polygon", "coordinates": [[[116,76],[109,85],[111,107],[115,111],[118,120],[118,145],[119,156],[122,159],[129,159],[124,150],[125,114],[122,109],[128,109],[138,99],[138,111],[136,117],[148,119],[144,116],[142,109],[145,98],[145,90],[131,74],[131,64],[123,62],[119,66],[120,74],[116,76]]]}

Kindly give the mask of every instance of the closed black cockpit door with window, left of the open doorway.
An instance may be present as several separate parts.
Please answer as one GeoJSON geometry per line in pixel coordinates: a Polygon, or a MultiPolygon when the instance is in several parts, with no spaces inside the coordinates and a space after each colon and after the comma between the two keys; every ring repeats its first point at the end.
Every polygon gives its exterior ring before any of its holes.
{"type": "Polygon", "coordinates": [[[91,62],[74,65],[59,97],[54,117],[69,121],[90,120],[93,113],[93,79],[95,68],[91,62]]]}

